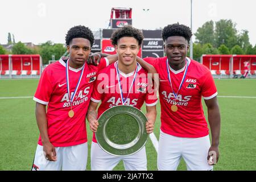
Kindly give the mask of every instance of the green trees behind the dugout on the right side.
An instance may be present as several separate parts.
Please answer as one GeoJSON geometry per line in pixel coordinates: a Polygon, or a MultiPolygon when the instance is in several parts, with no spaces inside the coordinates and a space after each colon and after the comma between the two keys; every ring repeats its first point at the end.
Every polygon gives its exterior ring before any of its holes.
{"type": "Polygon", "coordinates": [[[238,31],[230,19],[212,20],[199,27],[194,34],[193,59],[201,55],[256,55],[256,44],[249,42],[249,31],[238,31]]]}

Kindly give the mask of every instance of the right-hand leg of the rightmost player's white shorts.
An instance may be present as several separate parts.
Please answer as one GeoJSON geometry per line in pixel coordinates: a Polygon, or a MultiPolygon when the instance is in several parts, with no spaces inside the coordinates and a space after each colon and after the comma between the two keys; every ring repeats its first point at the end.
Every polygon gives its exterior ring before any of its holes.
{"type": "Polygon", "coordinates": [[[183,158],[189,171],[209,171],[213,169],[207,161],[210,148],[209,135],[200,138],[184,138],[183,158]]]}

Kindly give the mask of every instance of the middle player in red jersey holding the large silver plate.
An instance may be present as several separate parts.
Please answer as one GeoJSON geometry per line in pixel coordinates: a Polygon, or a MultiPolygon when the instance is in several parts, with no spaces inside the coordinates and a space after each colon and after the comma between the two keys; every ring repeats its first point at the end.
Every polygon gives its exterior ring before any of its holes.
{"type": "MultiPolygon", "coordinates": [[[[94,84],[94,92],[88,108],[87,119],[90,130],[97,131],[98,121],[105,110],[118,105],[130,105],[137,109],[146,102],[147,133],[152,133],[156,119],[157,98],[147,78],[147,71],[137,63],[137,54],[141,46],[142,32],[131,26],[125,26],[114,32],[112,44],[118,54],[118,61],[102,69],[94,84]],[[100,107],[97,106],[101,101],[100,107]]],[[[146,149],[143,147],[130,156],[113,156],[105,152],[98,145],[95,134],[91,148],[91,169],[112,170],[120,160],[123,160],[126,170],[147,170],[146,149]]]]}

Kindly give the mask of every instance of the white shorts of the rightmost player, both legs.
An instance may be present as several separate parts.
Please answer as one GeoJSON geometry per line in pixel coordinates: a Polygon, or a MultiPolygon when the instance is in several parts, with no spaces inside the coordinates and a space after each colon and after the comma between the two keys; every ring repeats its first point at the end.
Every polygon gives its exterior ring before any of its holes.
{"type": "Polygon", "coordinates": [[[183,157],[189,171],[210,171],[207,161],[210,148],[209,135],[200,138],[174,137],[160,131],[158,170],[174,171],[183,157]]]}

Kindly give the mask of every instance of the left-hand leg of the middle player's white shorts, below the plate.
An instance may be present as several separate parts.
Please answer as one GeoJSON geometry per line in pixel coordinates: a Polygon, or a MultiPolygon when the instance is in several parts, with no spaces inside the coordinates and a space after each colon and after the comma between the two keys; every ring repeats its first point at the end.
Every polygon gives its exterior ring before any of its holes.
{"type": "Polygon", "coordinates": [[[98,145],[92,142],[90,150],[90,167],[92,171],[112,171],[121,158],[110,155],[98,145]]]}

